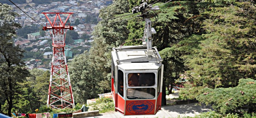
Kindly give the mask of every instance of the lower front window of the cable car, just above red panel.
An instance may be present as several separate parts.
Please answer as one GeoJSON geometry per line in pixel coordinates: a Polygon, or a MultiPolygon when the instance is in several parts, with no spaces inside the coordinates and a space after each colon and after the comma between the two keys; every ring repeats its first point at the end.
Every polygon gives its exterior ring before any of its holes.
{"type": "Polygon", "coordinates": [[[155,88],[129,88],[128,99],[152,99],[155,98],[155,88]]]}

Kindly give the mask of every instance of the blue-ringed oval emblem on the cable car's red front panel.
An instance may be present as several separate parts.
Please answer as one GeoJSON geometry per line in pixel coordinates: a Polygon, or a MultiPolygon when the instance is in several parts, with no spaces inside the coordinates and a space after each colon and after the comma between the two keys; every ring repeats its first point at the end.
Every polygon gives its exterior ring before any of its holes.
{"type": "Polygon", "coordinates": [[[154,104],[146,100],[137,100],[129,103],[126,109],[132,114],[147,114],[154,109],[154,104]]]}

